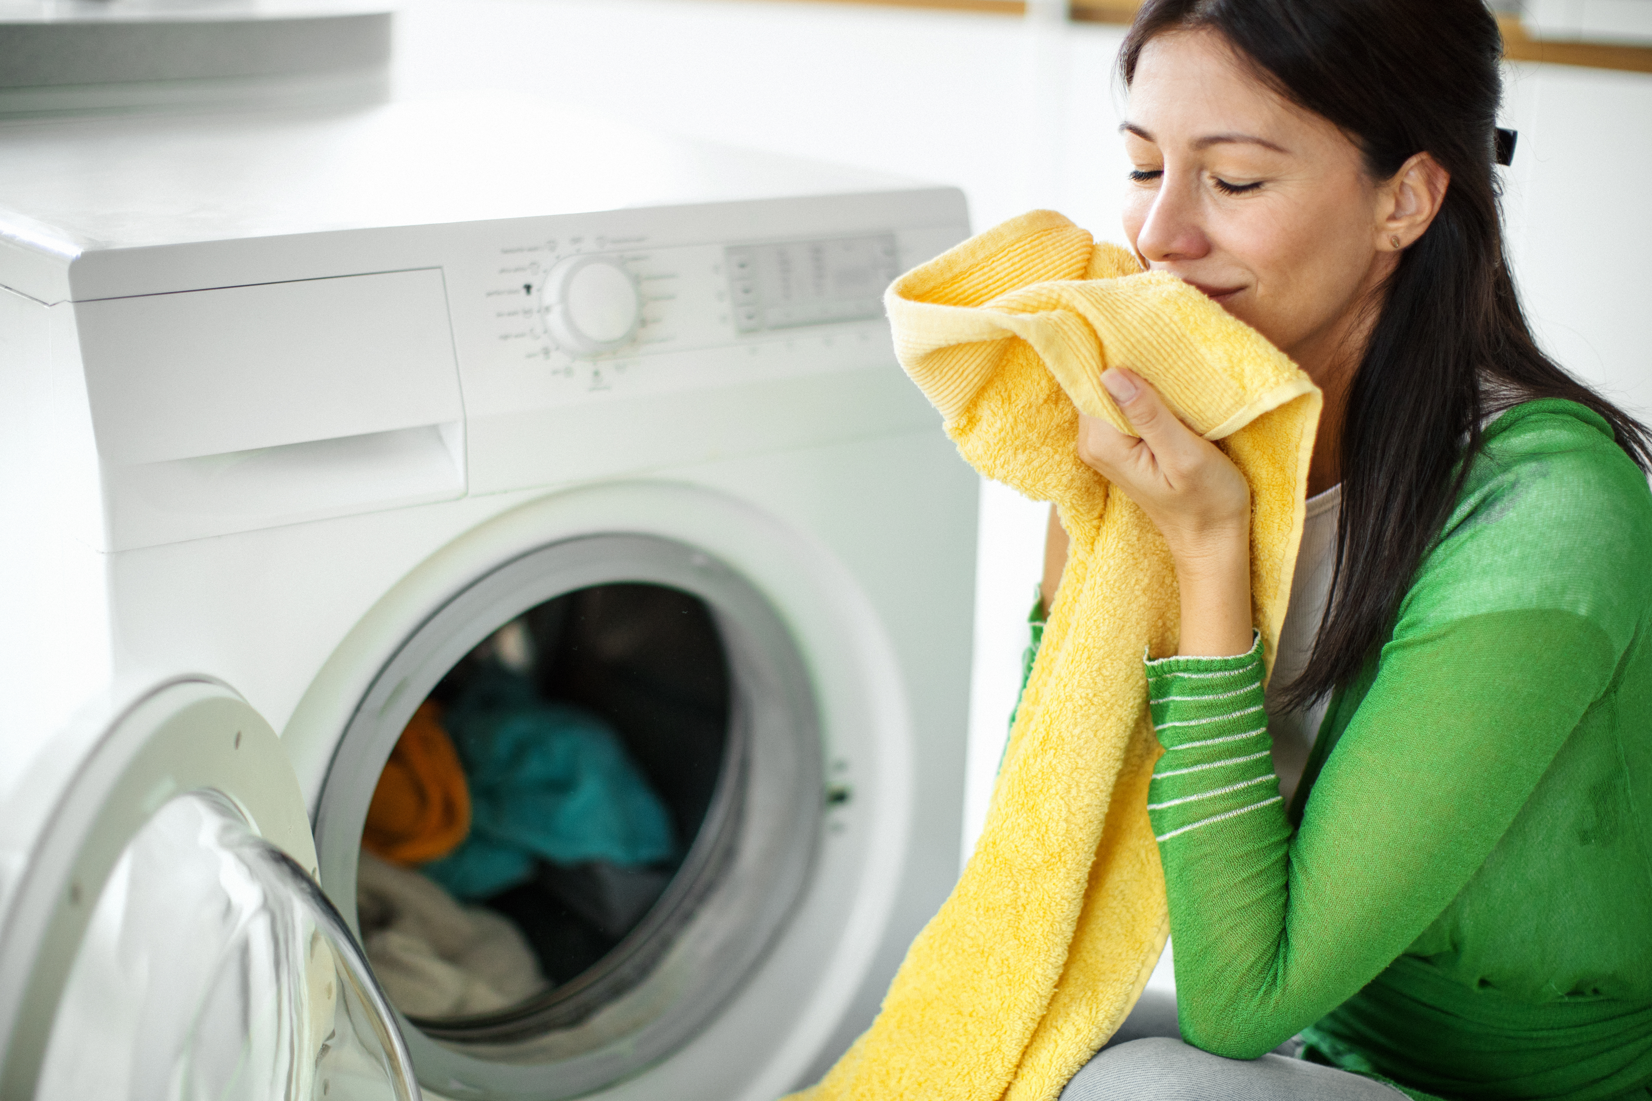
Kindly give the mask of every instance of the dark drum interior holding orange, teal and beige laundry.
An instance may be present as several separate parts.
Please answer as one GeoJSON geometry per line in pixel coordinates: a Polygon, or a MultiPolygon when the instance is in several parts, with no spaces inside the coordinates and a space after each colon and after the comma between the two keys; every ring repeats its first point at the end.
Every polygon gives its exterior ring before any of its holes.
{"type": "Polygon", "coordinates": [[[357,914],[390,1002],[463,1042],[624,994],[727,863],[732,756],[699,598],[601,584],[502,624],[430,692],[372,797],[357,914]]]}

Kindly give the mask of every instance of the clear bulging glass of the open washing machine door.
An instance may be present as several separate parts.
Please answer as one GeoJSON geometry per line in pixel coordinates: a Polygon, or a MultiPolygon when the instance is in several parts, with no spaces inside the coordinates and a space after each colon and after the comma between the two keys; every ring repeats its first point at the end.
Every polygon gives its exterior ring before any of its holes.
{"type": "Polygon", "coordinates": [[[36,1101],[418,1101],[337,911],[213,792],[164,804],[93,910],[36,1101]]]}

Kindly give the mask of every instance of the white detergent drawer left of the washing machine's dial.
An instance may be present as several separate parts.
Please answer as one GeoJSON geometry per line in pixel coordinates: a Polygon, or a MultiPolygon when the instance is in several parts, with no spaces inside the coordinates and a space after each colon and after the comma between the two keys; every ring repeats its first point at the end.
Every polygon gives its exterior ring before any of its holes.
{"type": "Polygon", "coordinates": [[[438,269],[79,302],[74,328],[106,550],[464,494],[438,269]]]}

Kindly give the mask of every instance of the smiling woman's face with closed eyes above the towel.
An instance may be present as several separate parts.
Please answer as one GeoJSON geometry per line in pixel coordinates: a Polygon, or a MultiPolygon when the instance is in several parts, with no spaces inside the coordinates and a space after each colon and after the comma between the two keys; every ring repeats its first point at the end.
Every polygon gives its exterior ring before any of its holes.
{"type": "Polygon", "coordinates": [[[1384,188],[1355,144],[1252,76],[1214,31],[1153,38],[1120,127],[1125,233],[1318,376],[1393,269],[1384,188]]]}

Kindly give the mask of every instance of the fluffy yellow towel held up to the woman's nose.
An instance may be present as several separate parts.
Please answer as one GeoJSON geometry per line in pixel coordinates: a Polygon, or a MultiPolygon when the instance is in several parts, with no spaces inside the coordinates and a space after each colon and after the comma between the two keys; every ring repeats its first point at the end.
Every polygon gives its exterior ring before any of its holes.
{"type": "Polygon", "coordinates": [[[902,276],[895,352],[981,474],[1052,500],[1070,535],[986,829],[872,1027],[811,1101],[1049,1101],[1118,1028],[1168,931],[1146,817],[1161,749],[1143,647],[1175,654],[1158,530],[1079,462],[1077,411],[1138,371],[1251,482],[1251,583],[1272,667],[1302,536],[1320,391],[1198,291],[1034,211],[902,276]]]}

